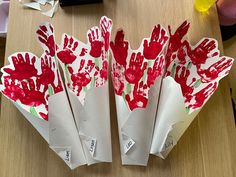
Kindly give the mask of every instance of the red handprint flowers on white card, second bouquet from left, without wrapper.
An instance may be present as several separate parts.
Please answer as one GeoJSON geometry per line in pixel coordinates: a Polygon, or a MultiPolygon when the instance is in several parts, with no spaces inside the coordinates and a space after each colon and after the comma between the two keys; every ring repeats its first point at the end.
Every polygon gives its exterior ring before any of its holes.
{"type": "Polygon", "coordinates": [[[82,104],[88,89],[102,87],[107,82],[111,28],[112,21],[102,17],[100,27],[88,30],[87,44],[64,34],[57,50],[66,85],[79,97],[82,104]]]}

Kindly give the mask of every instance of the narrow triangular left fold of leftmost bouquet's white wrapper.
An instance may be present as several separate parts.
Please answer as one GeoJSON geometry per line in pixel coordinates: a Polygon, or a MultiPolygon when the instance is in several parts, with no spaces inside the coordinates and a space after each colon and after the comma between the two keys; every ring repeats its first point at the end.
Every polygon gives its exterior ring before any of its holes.
{"type": "Polygon", "coordinates": [[[23,108],[21,108],[17,103],[13,102],[17,109],[24,115],[24,117],[33,125],[33,127],[39,132],[39,134],[49,142],[49,123],[48,121],[38,118],[23,108]]]}

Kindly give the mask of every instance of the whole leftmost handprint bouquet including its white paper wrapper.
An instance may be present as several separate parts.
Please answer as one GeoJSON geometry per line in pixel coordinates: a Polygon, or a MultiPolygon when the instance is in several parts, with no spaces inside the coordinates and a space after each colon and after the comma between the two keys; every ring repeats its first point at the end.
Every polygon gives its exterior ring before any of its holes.
{"type": "Polygon", "coordinates": [[[40,25],[37,37],[44,53],[40,58],[30,52],[9,56],[10,64],[2,68],[1,92],[73,169],[86,159],[57,69],[53,27],[40,25]]]}

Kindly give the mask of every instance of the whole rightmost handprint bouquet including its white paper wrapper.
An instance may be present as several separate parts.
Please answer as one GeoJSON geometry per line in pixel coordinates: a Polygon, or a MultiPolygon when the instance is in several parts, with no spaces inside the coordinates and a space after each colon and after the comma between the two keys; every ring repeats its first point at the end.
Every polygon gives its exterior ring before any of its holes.
{"type": "MultiPolygon", "coordinates": [[[[151,153],[165,158],[190,123],[228,75],[233,59],[220,57],[215,39],[203,38],[191,46],[183,37],[184,22],[172,35],[165,54],[163,79],[151,153]]],[[[170,29],[170,28],[169,28],[170,29]]]]}

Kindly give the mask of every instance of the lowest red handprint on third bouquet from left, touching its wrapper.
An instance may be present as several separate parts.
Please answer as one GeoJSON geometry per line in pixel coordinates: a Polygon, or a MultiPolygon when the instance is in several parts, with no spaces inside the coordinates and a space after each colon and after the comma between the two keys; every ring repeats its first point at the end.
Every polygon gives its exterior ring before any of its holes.
{"type": "Polygon", "coordinates": [[[145,108],[148,103],[147,99],[147,85],[143,84],[143,81],[140,82],[140,84],[136,83],[134,85],[134,90],[133,90],[133,99],[130,99],[130,95],[126,95],[125,99],[128,102],[130,110],[134,110],[136,108],[145,108]]]}

